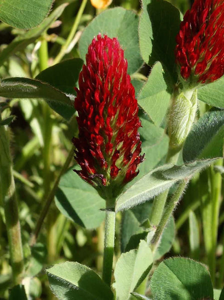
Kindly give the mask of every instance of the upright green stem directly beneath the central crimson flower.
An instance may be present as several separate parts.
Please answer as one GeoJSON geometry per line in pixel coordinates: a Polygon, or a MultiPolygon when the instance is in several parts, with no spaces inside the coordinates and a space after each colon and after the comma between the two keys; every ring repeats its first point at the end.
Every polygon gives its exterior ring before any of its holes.
{"type": "MultiPolygon", "coordinates": [[[[111,205],[106,202],[106,208],[111,205]]],[[[102,279],[110,286],[114,256],[114,238],[115,238],[115,219],[116,213],[112,210],[106,210],[105,235],[104,235],[104,253],[103,253],[103,273],[102,279]]]]}

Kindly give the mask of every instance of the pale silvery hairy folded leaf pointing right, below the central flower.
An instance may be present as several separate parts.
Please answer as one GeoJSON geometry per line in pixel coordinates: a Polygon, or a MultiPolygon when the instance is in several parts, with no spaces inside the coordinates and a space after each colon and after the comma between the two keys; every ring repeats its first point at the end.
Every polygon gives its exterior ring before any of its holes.
{"type": "Polygon", "coordinates": [[[165,164],[148,172],[120,194],[117,198],[115,211],[128,209],[153,198],[177,181],[191,177],[195,172],[208,166],[213,160],[194,161],[180,166],[165,164]]]}

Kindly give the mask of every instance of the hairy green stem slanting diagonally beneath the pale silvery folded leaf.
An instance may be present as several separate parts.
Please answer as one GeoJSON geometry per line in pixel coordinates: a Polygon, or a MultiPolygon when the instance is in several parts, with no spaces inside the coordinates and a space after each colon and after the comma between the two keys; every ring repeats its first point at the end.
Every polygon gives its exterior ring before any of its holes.
{"type": "Polygon", "coordinates": [[[153,251],[155,251],[156,248],[158,247],[162,232],[166,226],[166,223],[167,223],[172,211],[174,210],[176,204],[178,203],[178,201],[185,189],[186,184],[187,184],[187,181],[181,180],[175,193],[172,195],[172,197],[169,199],[169,201],[166,204],[162,218],[161,218],[161,220],[156,228],[155,234],[153,235],[153,238],[151,240],[151,248],[153,251]]]}

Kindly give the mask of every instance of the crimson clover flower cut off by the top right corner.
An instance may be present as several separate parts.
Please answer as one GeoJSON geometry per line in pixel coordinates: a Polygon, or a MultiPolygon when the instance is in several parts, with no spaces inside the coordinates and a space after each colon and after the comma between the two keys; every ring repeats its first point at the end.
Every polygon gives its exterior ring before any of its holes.
{"type": "Polygon", "coordinates": [[[176,61],[190,83],[209,83],[224,73],[224,1],[194,0],[176,36],[176,61]]]}

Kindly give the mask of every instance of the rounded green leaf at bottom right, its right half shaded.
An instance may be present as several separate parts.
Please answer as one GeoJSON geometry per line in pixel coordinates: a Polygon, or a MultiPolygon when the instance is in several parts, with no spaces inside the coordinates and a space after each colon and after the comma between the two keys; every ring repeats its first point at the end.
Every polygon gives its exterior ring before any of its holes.
{"type": "Polygon", "coordinates": [[[150,283],[154,299],[213,299],[213,287],[206,267],[189,258],[164,260],[154,271],[150,283]]]}

